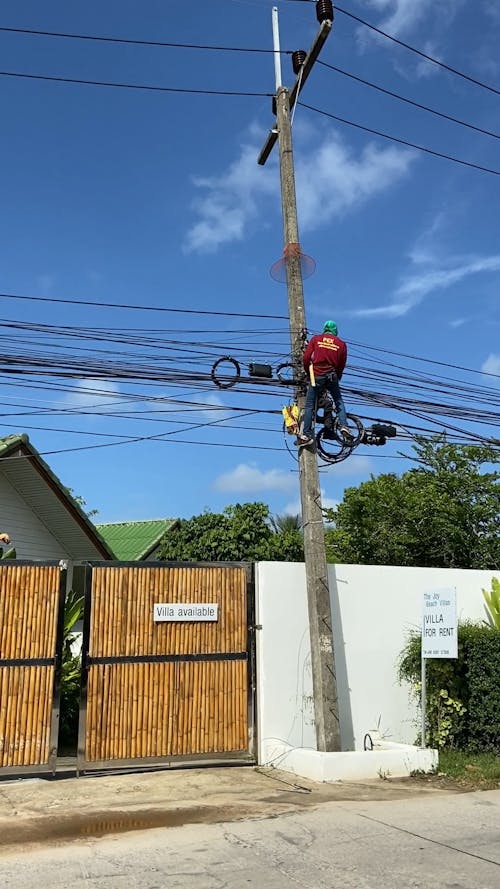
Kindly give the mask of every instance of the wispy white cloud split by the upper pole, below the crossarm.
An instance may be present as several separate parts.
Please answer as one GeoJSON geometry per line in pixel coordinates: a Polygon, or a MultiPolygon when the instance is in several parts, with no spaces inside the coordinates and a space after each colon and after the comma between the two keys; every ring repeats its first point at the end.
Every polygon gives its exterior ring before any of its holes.
{"type": "MultiPolygon", "coordinates": [[[[413,151],[367,145],[356,155],[332,129],[317,132],[314,152],[307,143],[311,127],[297,138],[296,180],[300,226],[312,230],[334,216],[354,209],[395,185],[416,160],[413,151]]],[[[241,241],[263,217],[263,203],[279,211],[279,175],[274,157],[264,168],[257,164],[257,144],[246,144],[239,157],[219,176],[196,178],[203,196],[195,199],[197,221],[187,232],[187,252],[215,252],[241,241]],[[270,201],[272,199],[272,202],[270,201]]]]}

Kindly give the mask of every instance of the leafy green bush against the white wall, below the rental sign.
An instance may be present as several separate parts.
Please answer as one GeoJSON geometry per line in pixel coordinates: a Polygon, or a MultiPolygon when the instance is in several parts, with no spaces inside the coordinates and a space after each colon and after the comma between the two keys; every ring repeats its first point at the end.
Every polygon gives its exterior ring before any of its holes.
{"type": "MultiPolygon", "coordinates": [[[[400,659],[399,679],[420,700],[420,634],[400,659]]],[[[500,753],[500,631],[480,624],[458,628],[458,658],[426,662],[426,741],[441,749],[500,753]]]]}

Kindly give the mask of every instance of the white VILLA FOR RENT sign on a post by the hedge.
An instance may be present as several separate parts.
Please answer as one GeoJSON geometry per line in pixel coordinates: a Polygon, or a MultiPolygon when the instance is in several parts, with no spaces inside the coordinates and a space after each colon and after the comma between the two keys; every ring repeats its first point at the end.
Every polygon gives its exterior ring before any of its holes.
{"type": "Polygon", "coordinates": [[[456,590],[424,593],[422,657],[458,657],[457,625],[456,590]]]}

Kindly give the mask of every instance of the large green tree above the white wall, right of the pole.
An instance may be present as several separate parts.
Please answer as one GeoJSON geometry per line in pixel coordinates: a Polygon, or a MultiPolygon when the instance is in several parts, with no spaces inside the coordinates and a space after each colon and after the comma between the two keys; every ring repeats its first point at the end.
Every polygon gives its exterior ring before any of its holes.
{"type": "Polygon", "coordinates": [[[328,519],[330,561],[367,565],[498,568],[497,451],[417,439],[415,467],[348,488],[328,519]]]}

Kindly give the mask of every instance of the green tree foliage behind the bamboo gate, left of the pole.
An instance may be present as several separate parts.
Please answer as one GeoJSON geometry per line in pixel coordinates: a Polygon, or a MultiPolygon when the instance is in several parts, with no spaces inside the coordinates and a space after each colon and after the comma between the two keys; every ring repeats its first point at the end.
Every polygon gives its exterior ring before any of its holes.
{"type": "Polygon", "coordinates": [[[304,558],[297,529],[276,532],[264,503],[237,503],[221,513],[181,519],[167,531],[159,558],[181,562],[297,562],[304,558]]]}

